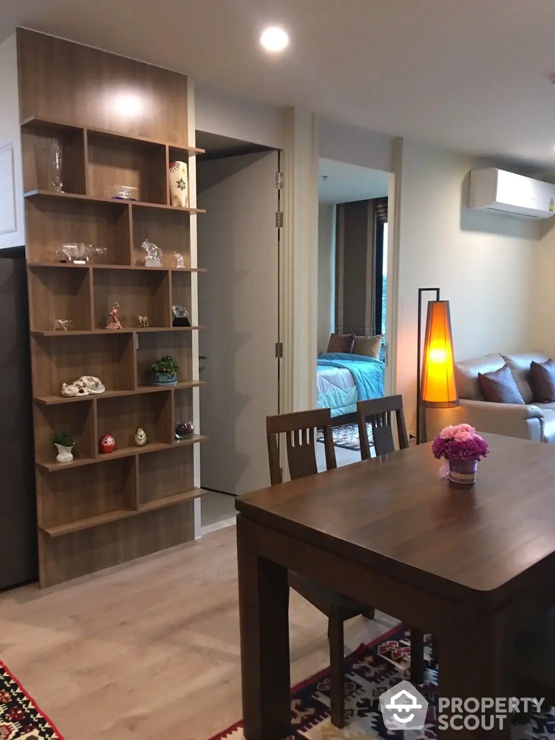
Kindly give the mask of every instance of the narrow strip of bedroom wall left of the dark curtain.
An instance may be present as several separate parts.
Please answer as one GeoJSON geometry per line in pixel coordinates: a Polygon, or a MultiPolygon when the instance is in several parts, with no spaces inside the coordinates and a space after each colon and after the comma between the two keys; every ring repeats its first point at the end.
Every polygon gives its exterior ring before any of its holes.
{"type": "Polygon", "coordinates": [[[335,206],[318,206],[318,352],[325,352],[334,331],[335,206]]]}

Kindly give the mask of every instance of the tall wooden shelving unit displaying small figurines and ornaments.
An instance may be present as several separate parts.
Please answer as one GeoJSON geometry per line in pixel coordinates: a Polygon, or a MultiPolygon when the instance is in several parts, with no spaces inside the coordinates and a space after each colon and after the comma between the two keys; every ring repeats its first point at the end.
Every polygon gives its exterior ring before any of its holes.
{"type": "Polygon", "coordinates": [[[30,31],[18,32],[18,44],[39,571],[46,586],[195,536],[192,502],[203,491],[195,486],[194,448],[206,437],[175,440],[174,430],[178,420],[193,419],[193,394],[203,385],[193,335],[206,327],[172,326],[172,305],[196,316],[197,275],[206,270],[196,265],[190,221],[204,211],[170,204],[168,166],[203,149],[184,143],[184,75],[30,31]],[[48,96],[36,71],[45,57],[54,60],[47,65],[54,77],[64,77],[66,67],[78,70],[65,85],[48,86],[48,96]],[[78,107],[76,93],[86,95],[89,81],[101,84],[103,75],[108,87],[112,79],[132,81],[134,89],[144,83],[157,96],[158,118],[132,121],[130,135],[108,104],[78,107]],[[35,104],[37,115],[29,115],[35,104]],[[58,109],[67,120],[52,117],[58,109]],[[109,121],[118,129],[103,125],[109,121]],[[152,138],[142,135],[148,132],[152,138]],[[49,182],[51,138],[61,145],[64,192],[49,182]],[[138,188],[138,201],[110,198],[114,184],[138,188]],[[162,250],[161,267],[144,266],[147,238],[162,250]],[[64,243],[103,247],[106,255],[102,262],[61,263],[55,253],[64,243]],[[184,268],[174,252],[184,255],[184,268]],[[115,301],[121,331],[105,329],[115,301]],[[138,326],[139,315],[149,317],[148,328],[138,326]],[[70,331],[53,330],[61,317],[72,321],[70,331]],[[153,386],[149,370],[164,354],[180,364],[179,382],[169,388],[153,386]],[[85,374],[101,378],[106,392],[61,395],[62,383],[85,374]],[[134,443],[138,426],[147,432],[144,447],[134,443]],[[75,437],[73,462],[55,462],[51,437],[59,431],[75,437]],[[117,444],[111,454],[98,448],[106,433],[117,444]]]}

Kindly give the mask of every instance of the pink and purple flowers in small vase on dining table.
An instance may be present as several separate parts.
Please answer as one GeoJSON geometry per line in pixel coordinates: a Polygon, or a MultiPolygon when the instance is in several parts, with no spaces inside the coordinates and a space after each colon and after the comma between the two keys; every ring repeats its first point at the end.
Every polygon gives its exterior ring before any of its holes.
{"type": "Polygon", "coordinates": [[[431,445],[434,457],[445,459],[443,477],[456,485],[476,482],[478,461],[488,454],[488,443],[470,424],[446,426],[431,445]]]}

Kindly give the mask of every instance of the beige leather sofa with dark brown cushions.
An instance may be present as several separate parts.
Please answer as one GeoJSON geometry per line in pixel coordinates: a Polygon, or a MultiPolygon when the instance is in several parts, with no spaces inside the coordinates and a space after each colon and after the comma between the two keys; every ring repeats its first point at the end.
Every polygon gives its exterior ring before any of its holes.
{"type": "Polygon", "coordinates": [[[555,443],[555,403],[534,403],[534,391],[529,383],[530,363],[544,363],[545,354],[486,354],[476,360],[455,365],[455,379],[460,408],[453,409],[452,423],[466,422],[478,431],[505,434],[534,442],[555,443]],[[487,403],[483,400],[478,373],[491,372],[505,363],[511,369],[524,404],[487,403]]]}

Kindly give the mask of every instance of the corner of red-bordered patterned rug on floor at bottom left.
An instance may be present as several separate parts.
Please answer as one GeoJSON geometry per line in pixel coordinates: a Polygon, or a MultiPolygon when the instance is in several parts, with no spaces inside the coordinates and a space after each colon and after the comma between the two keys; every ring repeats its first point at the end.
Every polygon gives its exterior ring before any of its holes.
{"type": "Polygon", "coordinates": [[[64,740],[19,681],[0,662],[0,740],[64,740]]]}

